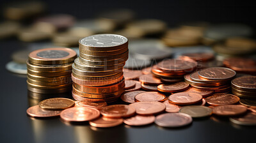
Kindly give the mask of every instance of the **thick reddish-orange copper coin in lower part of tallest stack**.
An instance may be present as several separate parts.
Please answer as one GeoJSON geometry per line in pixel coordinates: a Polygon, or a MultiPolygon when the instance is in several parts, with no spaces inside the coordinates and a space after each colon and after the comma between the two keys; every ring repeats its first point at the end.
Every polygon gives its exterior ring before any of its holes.
{"type": "Polygon", "coordinates": [[[92,94],[106,94],[106,93],[115,93],[119,90],[124,89],[124,80],[116,82],[108,86],[82,86],[80,84],[73,83],[74,88],[84,93],[92,94]]]}

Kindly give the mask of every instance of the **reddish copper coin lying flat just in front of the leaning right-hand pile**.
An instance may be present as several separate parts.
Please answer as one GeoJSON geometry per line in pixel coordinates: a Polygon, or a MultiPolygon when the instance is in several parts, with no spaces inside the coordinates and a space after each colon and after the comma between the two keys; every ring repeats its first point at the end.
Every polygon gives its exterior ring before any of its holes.
{"type": "Polygon", "coordinates": [[[230,105],[239,102],[240,98],[227,93],[216,93],[205,98],[205,101],[212,106],[230,105]]]}

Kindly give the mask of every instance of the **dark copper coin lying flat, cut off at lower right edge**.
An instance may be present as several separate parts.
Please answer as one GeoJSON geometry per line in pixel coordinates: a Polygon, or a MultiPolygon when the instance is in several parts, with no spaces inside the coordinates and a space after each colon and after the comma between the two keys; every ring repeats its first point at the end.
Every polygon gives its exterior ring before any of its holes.
{"type": "Polygon", "coordinates": [[[241,124],[246,126],[255,126],[256,125],[256,113],[248,112],[241,117],[231,117],[229,120],[235,124],[241,124]]]}

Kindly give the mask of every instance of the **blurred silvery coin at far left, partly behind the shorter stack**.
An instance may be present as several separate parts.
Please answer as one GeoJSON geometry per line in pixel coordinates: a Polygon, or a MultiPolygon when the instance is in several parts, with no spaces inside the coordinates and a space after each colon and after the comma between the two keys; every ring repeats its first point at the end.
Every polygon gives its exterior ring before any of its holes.
{"type": "Polygon", "coordinates": [[[13,73],[27,74],[27,64],[20,64],[14,61],[10,61],[6,64],[5,68],[13,73]]]}

